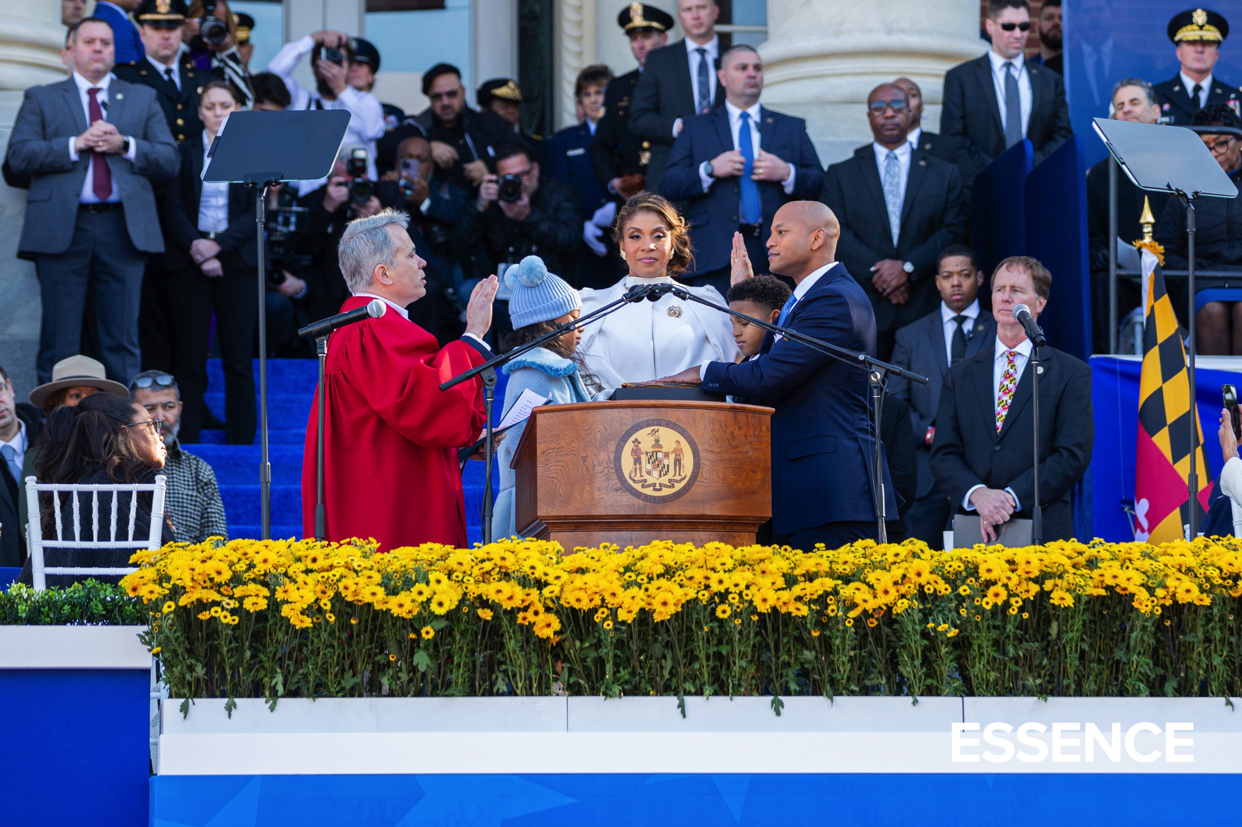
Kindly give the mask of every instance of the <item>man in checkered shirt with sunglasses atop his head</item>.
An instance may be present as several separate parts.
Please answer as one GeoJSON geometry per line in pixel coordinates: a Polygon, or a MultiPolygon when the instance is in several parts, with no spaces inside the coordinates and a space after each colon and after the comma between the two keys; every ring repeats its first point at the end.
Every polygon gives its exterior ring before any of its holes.
{"type": "Polygon", "coordinates": [[[129,397],[150,414],[168,448],[160,473],[168,477],[164,508],[173,520],[178,541],[202,543],[209,536],[227,540],[229,524],[216,472],[176,441],[181,426],[181,391],[176,380],[161,370],[144,370],[129,380],[129,397]]]}

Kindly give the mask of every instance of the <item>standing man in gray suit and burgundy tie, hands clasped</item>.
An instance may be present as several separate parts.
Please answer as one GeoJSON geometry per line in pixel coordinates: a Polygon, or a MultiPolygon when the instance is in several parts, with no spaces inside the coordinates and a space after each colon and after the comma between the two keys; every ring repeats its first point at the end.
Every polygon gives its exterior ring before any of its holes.
{"type": "Polygon", "coordinates": [[[20,253],[39,269],[43,318],[39,381],[81,350],[92,297],[99,360],[108,376],[137,374],[138,299],[148,253],[164,252],[148,179],[178,171],[179,155],[154,89],[118,81],[107,21],[70,32],[73,75],[26,91],[9,163],[31,176],[20,253]]]}

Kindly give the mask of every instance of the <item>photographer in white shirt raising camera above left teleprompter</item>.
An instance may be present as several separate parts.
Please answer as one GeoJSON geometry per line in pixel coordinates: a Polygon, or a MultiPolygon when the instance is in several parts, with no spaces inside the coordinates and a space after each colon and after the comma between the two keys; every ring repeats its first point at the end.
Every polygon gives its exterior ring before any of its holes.
{"type": "MultiPolygon", "coordinates": [[[[289,88],[289,96],[293,98],[291,109],[349,112],[345,145],[361,147],[366,150],[366,176],[374,181],[375,142],[383,138],[385,132],[384,107],[380,106],[379,98],[353,83],[356,81],[366,86],[370,68],[363,63],[355,66],[349,36],[325,29],[286,43],[267,63],[267,71],[277,75],[289,88]],[[315,77],[313,92],[293,79],[293,70],[307,55],[310,56],[310,67],[315,77]]],[[[307,192],[318,184],[318,181],[306,181],[301,191],[307,192]]]]}

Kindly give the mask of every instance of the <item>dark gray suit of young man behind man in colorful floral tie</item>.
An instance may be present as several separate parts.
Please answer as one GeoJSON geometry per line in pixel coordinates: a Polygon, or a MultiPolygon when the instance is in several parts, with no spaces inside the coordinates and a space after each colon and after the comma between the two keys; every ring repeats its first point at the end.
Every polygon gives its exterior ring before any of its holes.
{"type": "MultiPolygon", "coordinates": [[[[966,359],[974,356],[985,345],[992,346],[996,340],[996,320],[992,314],[979,308],[979,317],[969,330],[966,340],[966,359]]],[[[949,354],[944,348],[944,324],[940,308],[928,313],[918,322],[908,324],[897,332],[897,345],[893,348],[894,365],[907,368],[928,377],[927,385],[912,382],[900,376],[888,380],[888,395],[904,400],[910,406],[910,430],[917,446],[919,466],[919,497],[927,497],[935,487],[929,459],[932,448],[927,443],[928,428],[935,425],[935,409],[940,404],[940,389],[944,387],[944,375],[949,373],[949,354]]],[[[887,409],[886,409],[887,410],[887,409]]]]}

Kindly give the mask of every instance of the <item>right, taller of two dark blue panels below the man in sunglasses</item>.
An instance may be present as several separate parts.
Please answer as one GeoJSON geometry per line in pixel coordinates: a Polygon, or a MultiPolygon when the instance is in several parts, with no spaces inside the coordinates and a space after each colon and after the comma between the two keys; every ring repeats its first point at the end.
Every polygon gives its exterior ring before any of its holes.
{"type": "Polygon", "coordinates": [[[1027,176],[1026,240],[1030,255],[1052,273],[1052,297],[1040,318],[1048,344],[1087,359],[1092,351],[1087,168],[1078,135],[1027,176]]]}

